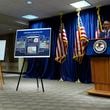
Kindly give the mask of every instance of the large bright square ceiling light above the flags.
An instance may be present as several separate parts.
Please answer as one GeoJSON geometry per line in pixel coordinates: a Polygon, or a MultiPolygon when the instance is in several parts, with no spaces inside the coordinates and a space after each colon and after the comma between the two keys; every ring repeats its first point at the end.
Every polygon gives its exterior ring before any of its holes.
{"type": "Polygon", "coordinates": [[[91,6],[91,4],[88,3],[85,0],[82,0],[82,1],[79,1],[79,2],[75,2],[75,3],[71,3],[70,5],[75,7],[75,8],[84,8],[84,7],[87,7],[87,6],[91,6]]]}

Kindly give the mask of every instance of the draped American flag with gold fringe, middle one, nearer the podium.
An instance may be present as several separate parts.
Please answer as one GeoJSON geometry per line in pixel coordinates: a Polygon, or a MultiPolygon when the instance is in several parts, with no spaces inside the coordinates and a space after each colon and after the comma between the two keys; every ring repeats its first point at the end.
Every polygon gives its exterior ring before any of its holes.
{"type": "Polygon", "coordinates": [[[88,38],[85,28],[83,26],[80,15],[78,15],[78,30],[76,32],[75,46],[73,51],[73,59],[81,63],[85,55],[85,48],[87,46],[88,38]]]}

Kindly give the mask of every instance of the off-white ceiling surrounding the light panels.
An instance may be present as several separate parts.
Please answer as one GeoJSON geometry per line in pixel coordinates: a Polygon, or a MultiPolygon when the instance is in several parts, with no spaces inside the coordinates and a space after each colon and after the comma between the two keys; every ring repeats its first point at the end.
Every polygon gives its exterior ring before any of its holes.
{"type": "MultiPolygon", "coordinates": [[[[34,14],[39,19],[56,16],[60,13],[75,11],[70,3],[79,0],[30,0],[31,5],[26,4],[27,0],[0,0],[0,34],[9,33],[19,28],[26,28],[28,21],[22,19],[25,14],[34,14]],[[25,24],[17,23],[16,21],[25,24]]],[[[110,0],[87,0],[92,7],[110,4],[110,0]]]]}

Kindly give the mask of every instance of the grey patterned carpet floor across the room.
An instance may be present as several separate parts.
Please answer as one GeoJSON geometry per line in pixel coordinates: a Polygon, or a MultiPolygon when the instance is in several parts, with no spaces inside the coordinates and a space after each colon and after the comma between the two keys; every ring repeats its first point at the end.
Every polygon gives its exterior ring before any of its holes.
{"type": "Polygon", "coordinates": [[[18,75],[4,74],[4,77],[0,110],[110,110],[110,98],[87,94],[92,84],[43,80],[43,93],[35,79],[22,78],[16,91],[18,75]]]}

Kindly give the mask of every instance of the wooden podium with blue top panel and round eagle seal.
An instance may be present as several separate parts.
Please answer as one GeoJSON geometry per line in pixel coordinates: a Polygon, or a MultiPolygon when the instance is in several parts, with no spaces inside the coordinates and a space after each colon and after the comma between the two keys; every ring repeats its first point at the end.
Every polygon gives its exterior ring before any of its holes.
{"type": "Polygon", "coordinates": [[[90,57],[94,87],[87,92],[110,96],[110,39],[90,40],[86,55],[90,57]]]}

